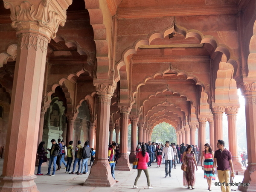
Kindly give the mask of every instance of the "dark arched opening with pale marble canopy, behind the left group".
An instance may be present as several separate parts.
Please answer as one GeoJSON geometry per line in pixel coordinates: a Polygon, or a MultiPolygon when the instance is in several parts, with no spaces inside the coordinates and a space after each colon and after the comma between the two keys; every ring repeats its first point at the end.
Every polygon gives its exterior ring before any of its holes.
{"type": "MultiPolygon", "coordinates": [[[[59,101],[58,97],[52,99],[50,107],[44,116],[44,130],[43,130],[43,141],[45,141],[45,148],[51,148],[51,140],[58,138],[63,140],[63,131],[66,126],[66,117],[64,115],[65,107],[63,102],[59,101]]],[[[47,154],[50,157],[50,154],[47,154]]]]}

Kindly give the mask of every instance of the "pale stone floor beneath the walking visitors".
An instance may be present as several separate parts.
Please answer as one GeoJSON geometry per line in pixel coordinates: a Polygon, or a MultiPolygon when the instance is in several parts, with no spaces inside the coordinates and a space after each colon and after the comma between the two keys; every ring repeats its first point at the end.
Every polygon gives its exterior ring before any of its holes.
{"type": "MultiPolygon", "coordinates": [[[[48,163],[48,162],[47,162],[48,163]]],[[[73,165],[72,165],[73,167],[73,165]]],[[[3,168],[3,159],[0,159],[0,175],[2,174],[3,168]]],[[[77,166],[78,168],[78,166],[77,166]]],[[[198,167],[198,171],[195,172],[196,183],[195,190],[196,192],[208,192],[207,190],[207,181],[203,178],[204,172],[201,169],[201,166],[198,167]]],[[[42,166],[41,172],[46,174],[48,166],[42,166]]],[[[35,168],[35,174],[37,167],[35,168]]],[[[77,169],[76,169],[77,171],[77,169]]],[[[90,172],[90,166],[89,166],[90,172]]],[[[177,169],[172,169],[172,177],[165,178],[165,169],[164,165],[161,165],[160,168],[157,168],[157,164],[153,163],[151,168],[149,168],[150,183],[153,186],[153,189],[150,189],[151,192],[188,192],[192,189],[186,189],[182,183],[182,174],[183,171],[180,169],[180,165],[177,165],[177,169]]],[[[147,186],[146,177],[144,172],[142,172],[140,179],[138,180],[137,186],[138,189],[133,189],[134,180],[137,176],[137,170],[131,170],[130,172],[125,171],[116,171],[116,180],[119,180],[111,188],[105,187],[87,187],[83,186],[84,181],[87,179],[88,174],[86,175],[70,175],[66,174],[64,169],[61,169],[59,172],[55,172],[55,176],[37,176],[35,183],[37,183],[38,190],[40,192],[141,192],[148,189],[144,189],[147,186]]],[[[236,175],[234,182],[241,182],[243,176],[236,175]]],[[[218,178],[212,183],[212,192],[220,192],[220,186],[215,186],[214,183],[218,182],[218,178]]],[[[239,191],[237,187],[232,187],[232,189],[239,191]]]]}

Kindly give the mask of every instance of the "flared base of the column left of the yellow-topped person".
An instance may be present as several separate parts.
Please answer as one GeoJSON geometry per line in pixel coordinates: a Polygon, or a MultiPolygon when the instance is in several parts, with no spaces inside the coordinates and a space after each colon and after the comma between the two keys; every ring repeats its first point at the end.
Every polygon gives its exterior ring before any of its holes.
{"type": "Polygon", "coordinates": [[[111,187],[115,183],[108,160],[95,160],[84,186],[111,187]]]}

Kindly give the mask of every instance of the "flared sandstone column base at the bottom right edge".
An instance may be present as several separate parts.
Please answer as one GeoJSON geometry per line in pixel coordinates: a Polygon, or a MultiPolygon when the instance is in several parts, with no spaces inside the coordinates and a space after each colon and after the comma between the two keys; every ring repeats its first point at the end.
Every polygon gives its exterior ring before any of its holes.
{"type": "Polygon", "coordinates": [[[250,184],[249,186],[238,186],[242,192],[256,192],[256,163],[248,163],[242,183],[250,184]]]}

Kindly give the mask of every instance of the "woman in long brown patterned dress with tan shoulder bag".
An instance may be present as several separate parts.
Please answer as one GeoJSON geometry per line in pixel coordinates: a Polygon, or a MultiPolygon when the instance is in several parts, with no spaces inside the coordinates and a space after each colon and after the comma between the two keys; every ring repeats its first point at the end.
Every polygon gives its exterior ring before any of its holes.
{"type": "Polygon", "coordinates": [[[198,168],[195,160],[195,154],[192,150],[192,145],[189,145],[186,148],[186,151],[182,154],[182,163],[185,163],[187,166],[186,172],[183,172],[183,186],[187,186],[188,189],[191,186],[192,189],[195,189],[195,166],[196,170],[198,170],[198,168]]]}

